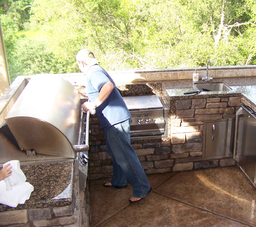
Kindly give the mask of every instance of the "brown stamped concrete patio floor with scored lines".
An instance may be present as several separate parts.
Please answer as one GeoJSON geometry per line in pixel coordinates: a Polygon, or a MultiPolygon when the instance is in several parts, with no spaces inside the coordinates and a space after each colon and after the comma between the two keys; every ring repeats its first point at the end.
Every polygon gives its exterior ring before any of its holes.
{"type": "Polygon", "coordinates": [[[148,180],[153,192],[136,205],[129,204],[131,185],[105,188],[103,181],[92,181],[90,227],[256,226],[256,189],[237,166],[154,174],[148,180]]]}

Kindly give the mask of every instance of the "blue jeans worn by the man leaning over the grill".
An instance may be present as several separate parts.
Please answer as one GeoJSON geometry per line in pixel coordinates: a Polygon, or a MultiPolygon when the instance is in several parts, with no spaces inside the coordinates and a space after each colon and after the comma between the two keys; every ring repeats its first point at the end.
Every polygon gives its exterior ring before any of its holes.
{"type": "Polygon", "coordinates": [[[131,146],[130,123],[131,118],[105,130],[106,148],[113,161],[111,184],[121,188],[128,180],[133,187],[133,196],[142,198],[150,190],[150,183],[131,146]]]}

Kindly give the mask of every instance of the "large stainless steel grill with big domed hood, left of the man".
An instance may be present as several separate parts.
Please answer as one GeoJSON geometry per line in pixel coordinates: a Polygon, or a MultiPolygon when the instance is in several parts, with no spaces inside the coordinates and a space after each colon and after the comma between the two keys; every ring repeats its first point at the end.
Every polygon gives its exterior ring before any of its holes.
{"type": "Polygon", "coordinates": [[[0,125],[0,164],[72,162],[76,153],[83,155],[89,149],[88,141],[81,144],[89,118],[81,112],[83,101],[61,77],[33,77],[0,125]]]}

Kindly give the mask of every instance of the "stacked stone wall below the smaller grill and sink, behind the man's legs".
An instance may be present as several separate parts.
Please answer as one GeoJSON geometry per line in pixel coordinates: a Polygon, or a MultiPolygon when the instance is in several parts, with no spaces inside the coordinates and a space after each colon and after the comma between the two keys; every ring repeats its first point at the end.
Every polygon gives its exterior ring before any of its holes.
{"type": "MultiPolygon", "coordinates": [[[[203,127],[206,120],[235,118],[240,105],[241,97],[176,100],[175,114],[168,117],[169,140],[133,141],[132,146],[146,174],[235,165],[232,158],[202,159],[203,127]]],[[[112,178],[112,161],[106,152],[104,132],[95,118],[91,117],[90,124],[91,137],[94,138],[89,152],[90,179],[112,178]]]]}

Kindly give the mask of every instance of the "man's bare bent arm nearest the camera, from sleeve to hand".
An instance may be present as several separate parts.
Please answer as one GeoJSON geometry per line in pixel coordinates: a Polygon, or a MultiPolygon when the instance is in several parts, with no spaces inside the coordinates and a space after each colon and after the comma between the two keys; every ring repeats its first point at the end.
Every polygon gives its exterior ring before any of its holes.
{"type": "Polygon", "coordinates": [[[100,106],[104,100],[106,100],[110,93],[112,92],[112,90],[114,89],[114,85],[112,82],[107,82],[105,83],[98,94],[98,97],[94,100],[94,102],[90,103],[90,102],[85,102],[82,104],[82,109],[84,111],[88,111],[88,110],[94,110],[96,107],[100,106]]]}

